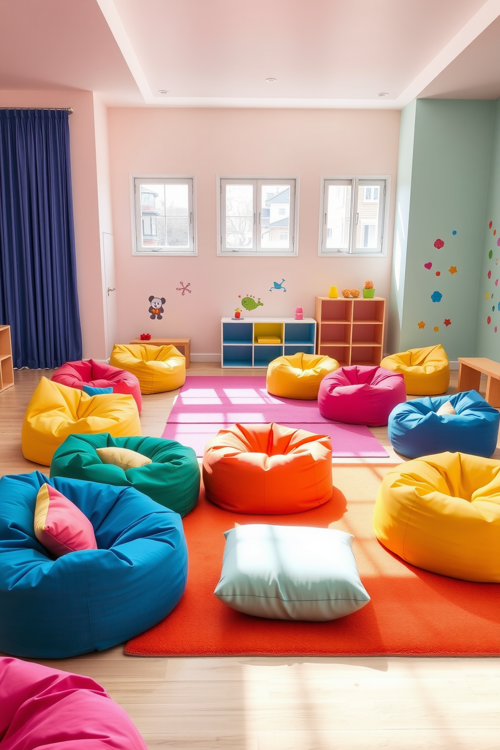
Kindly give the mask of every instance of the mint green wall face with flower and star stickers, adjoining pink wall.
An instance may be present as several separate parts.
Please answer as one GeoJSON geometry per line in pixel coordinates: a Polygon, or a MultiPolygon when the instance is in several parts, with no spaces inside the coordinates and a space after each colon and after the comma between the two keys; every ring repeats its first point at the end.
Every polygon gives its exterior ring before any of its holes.
{"type": "MultiPolygon", "coordinates": [[[[442,344],[449,359],[456,360],[474,352],[495,103],[419,99],[403,110],[402,117],[409,122],[409,108],[413,106],[413,139],[406,133],[400,145],[405,181],[411,174],[406,258],[403,250],[399,253],[404,266],[399,272],[403,295],[399,292],[391,299],[388,341],[394,346],[390,351],[442,344]],[[442,249],[434,247],[436,239],[445,242],[442,249]],[[426,269],[425,263],[432,263],[432,268],[426,269]],[[452,266],[457,268],[454,274],[449,271],[452,266]],[[440,275],[436,276],[436,272],[440,275]],[[442,295],[439,302],[431,299],[434,292],[442,295]],[[394,329],[395,307],[400,318],[399,346],[397,327],[394,329]],[[450,325],[445,326],[445,320],[450,325]],[[419,328],[418,323],[425,326],[419,328]],[[435,332],[435,327],[439,331],[435,332]]],[[[406,184],[403,193],[408,194],[406,184]]],[[[395,285],[397,238],[396,232],[395,285]]]]}

